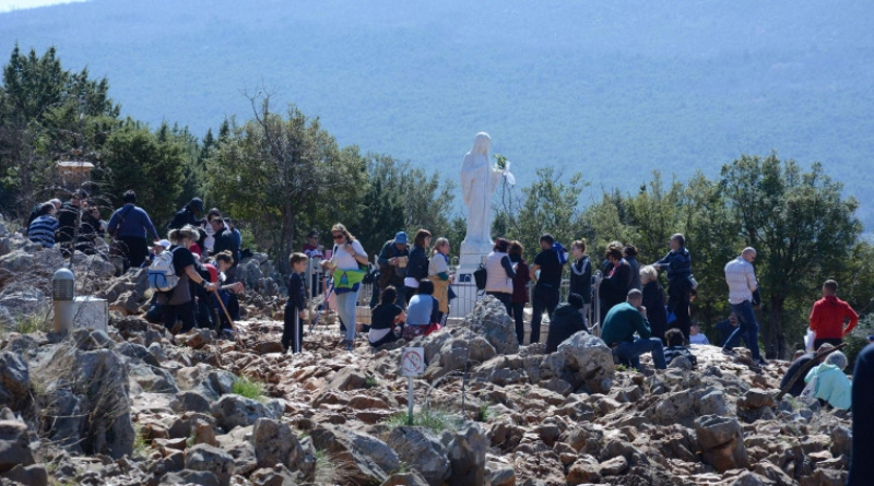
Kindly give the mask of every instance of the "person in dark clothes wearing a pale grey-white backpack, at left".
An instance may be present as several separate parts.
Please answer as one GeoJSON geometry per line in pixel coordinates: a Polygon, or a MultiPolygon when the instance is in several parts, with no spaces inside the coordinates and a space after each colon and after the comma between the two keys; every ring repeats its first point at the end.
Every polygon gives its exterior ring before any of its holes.
{"type": "Polygon", "coordinates": [[[198,228],[191,225],[172,229],[168,239],[173,246],[156,256],[149,266],[150,286],[161,292],[158,300],[164,312],[164,325],[174,334],[179,331],[188,332],[197,323],[189,283],[193,282],[208,292],[216,288],[216,284],[206,282],[198,274],[194,256],[189,250],[199,236],[198,228]],[[181,324],[177,324],[177,320],[180,320],[181,324]]]}

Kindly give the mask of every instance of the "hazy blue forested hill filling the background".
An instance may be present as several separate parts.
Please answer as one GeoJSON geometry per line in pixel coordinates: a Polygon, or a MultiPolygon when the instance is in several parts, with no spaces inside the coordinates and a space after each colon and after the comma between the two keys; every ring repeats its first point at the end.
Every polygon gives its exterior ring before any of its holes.
{"type": "Polygon", "coordinates": [[[520,183],[581,171],[583,200],[776,150],[823,162],[870,229],[872,25],[840,0],[96,0],[0,14],[0,59],[55,45],[125,114],[196,133],[265,86],[343,144],[451,178],[484,130],[520,183]]]}

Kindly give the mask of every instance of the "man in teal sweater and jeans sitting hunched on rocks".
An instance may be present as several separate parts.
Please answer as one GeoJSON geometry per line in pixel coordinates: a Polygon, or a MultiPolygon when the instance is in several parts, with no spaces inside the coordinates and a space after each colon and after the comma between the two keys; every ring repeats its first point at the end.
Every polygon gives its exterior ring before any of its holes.
{"type": "Polygon", "coordinates": [[[652,353],[656,369],[665,369],[662,340],[652,337],[647,322],[647,308],[641,305],[643,294],[637,288],[628,291],[628,297],[622,304],[613,306],[604,319],[601,339],[613,349],[613,354],[625,366],[640,369],[638,357],[652,353]],[[635,340],[635,332],[640,336],[635,340]]]}

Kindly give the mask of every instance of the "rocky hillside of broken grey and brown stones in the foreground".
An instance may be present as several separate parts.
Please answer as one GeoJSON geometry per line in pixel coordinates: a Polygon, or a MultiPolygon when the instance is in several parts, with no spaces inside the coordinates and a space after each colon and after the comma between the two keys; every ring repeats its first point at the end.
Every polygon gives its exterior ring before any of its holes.
{"type": "Polygon", "coordinates": [[[696,369],[682,360],[654,371],[645,358],[636,372],[615,368],[604,343],[584,333],[545,355],[542,344],[516,344],[489,297],[463,322],[410,343],[425,348],[427,370],[415,381],[409,426],[398,366],[404,343],[373,351],[362,339],[345,352],[328,317],[304,353],[284,355],[275,301],[255,295],[237,323],[239,341],[210,330],[173,336],[139,316],[139,275],[114,280],[108,268],[80,272],[90,276],[78,282],[129,303],[114,306],[108,332],[55,334],[39,322],[23,325],[34,319],[23,313],[26,303],[39,311],[49,304],[43,280],[59,262],[54,250],[8,235],[0,252],[0,305],[14,310],[0,340],[0,484],[837,486],[846,478],[848,414],[775,402],[786,363],[756,374],[748,355],[732,361],[717,347],[693,346],[696,369]]]}

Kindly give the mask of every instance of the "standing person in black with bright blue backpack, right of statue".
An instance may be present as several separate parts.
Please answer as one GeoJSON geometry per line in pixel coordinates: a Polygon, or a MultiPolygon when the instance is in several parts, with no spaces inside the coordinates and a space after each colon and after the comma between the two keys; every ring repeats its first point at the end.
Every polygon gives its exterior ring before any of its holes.
{"type": "Polygon", "coordinates": [[[531,316],[531,344],[540,342],[540,324],[543,312],[552,319],[560,299],[562,272],[567,258],[564,248],[555,242],[548,233],[540,237],[540,253],[531,265],[531,280],[534,282],[534,303],[531,316]]]}

